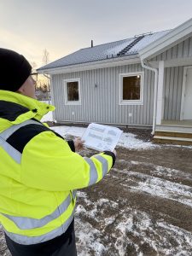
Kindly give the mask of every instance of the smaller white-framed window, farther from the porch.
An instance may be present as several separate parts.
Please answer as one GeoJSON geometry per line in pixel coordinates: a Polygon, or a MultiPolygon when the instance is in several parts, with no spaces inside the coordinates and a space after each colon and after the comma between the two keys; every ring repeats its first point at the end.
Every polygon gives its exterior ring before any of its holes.
{"type": "Polygon", "coordinates": [[[80,102],[80,79],[64,80],[65,102],[68,105],[79,105],[80,102]]]}

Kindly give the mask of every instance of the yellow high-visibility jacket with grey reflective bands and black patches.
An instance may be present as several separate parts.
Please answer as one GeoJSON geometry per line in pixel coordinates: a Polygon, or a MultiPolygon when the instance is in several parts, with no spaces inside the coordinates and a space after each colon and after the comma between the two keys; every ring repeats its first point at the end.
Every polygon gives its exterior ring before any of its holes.
{"type": "Polygon", "coordinates": [[[97,183],[113,166],[113,153],[83,158],[39,121],[54,109],[0,90],[0,222],[20,244],[61,236],[73,221],[75,189],[97,183]]]}

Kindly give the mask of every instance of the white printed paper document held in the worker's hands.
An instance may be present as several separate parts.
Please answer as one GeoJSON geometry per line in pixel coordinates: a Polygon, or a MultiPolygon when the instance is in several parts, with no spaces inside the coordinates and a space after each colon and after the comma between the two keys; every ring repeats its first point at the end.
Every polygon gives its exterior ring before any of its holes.
{"type": "Polygon", "coordinates": [[[84,140],[84,146],[87,148],[113,151],[122,132],[116,127],[91,123],[81,139],[84,140]]]}

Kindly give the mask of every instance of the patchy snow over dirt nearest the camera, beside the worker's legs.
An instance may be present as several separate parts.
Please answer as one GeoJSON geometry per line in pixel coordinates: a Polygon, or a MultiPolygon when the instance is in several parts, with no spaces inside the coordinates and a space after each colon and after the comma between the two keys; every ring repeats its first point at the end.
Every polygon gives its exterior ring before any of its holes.
{"type": "MultiPolygon", "coordinates": [[[[148,245],[150,245],[150,252],[153,252],[150,255],[190,255],[192,234],[166,223],[163,216],[162,219],[154,222],[148,213],[133,209],[129,205],[119,210],[118,203],[114,201],[100,199],[93,203],[87,198],[89,195],[81,194],[82,192],[78,192],[80,201],[86,201],[89,211],[79,202],[75,214],[79,256],[146,256],[148,245]],[[104,210],[109,208],[115,211],[113,216],[102,218],[104,210]],[[84,221],[86,218],[89,221],[84,221]],[[93,225],[90,224],[90,220],[93,221],[93,225]],[[97,224],[98,229],[96,229],[97,224]],[[132,247],[134,254],[127,252],[128,246],[132,247]],[[146,253],[143,253],[145,250],[146,253]]],[[[127,204],[126,200],[125,204],[127,204]]]]}

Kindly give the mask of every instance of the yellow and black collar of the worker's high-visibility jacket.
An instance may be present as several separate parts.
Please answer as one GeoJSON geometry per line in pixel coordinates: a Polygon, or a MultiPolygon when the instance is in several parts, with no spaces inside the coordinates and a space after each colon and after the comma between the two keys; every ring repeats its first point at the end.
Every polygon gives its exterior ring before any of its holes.
{"type": "Polygon", "coordinates": [[[0,90],[0,109],[0,131],[3,131],[27,119],[40,120],[45,113],[55,110],[55,107],[17,92],[0,90]]]}

